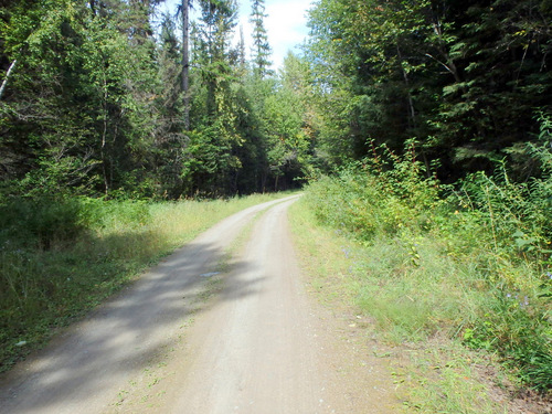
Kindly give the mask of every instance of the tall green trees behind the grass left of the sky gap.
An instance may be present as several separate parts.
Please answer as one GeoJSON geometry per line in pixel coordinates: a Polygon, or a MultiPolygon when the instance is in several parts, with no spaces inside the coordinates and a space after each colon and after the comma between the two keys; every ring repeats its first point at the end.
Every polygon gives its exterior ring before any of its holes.
{"type": "Polygon", "coordinates": [[[199,18],[184,92],[183,10],[159,17],[161,1],[1,8],[4,194],[177,199],[297,185],[310,145],[299,95],[284,84],[287,68],[269,68],[264,2],[252,4],[251,62],[244,40],[231,42],[236,2],[192,2],[199,18]],[[294,120],[278,125],[288,115],[294,120]]]}

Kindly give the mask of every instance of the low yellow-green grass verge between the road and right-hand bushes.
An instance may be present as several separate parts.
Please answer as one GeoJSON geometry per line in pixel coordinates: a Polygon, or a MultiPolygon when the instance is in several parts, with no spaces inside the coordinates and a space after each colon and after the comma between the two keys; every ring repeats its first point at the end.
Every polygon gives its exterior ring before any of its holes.
{"type": "Polygon", "coordinates": [[[429,246],[418,246],[422,263],[415,264],[408,244],[378,240],[369,245],[321,225],[308,198],[295,203],[289,216],[310,290],[331,307],[367,316],[372,321],[367,336],[378,332],[402,355],[392,362],[391,375],[405,413],[507,412],[489,397],[487,380],[474,368],[490,364],[488,358],[449,339],[467,317],[459,307],[469,314],[473,305],[461,285],[443,282],[443,272],[421,269],[429,246]]]}

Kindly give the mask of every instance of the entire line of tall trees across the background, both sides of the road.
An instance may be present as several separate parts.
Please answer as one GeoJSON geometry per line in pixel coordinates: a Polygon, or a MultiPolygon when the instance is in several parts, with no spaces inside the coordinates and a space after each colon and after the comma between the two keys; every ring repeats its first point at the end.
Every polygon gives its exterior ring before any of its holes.
{"type": "Polygon", "coordinates": [[[552,107],[550,0],[318,0],[304,55],[278,73],[264,1],[251,59],[235,0],[162,17],[160,2],[1,8],[3,194],[272,191],[412,138],[449,182],[503,160],[519,180],[539,170],[528,142],[552,107]]]}

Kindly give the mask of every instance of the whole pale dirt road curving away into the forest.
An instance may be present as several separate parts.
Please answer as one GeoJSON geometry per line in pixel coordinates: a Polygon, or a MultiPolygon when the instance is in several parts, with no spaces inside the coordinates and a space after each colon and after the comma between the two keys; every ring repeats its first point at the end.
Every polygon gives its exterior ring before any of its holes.
{"type": "Polygon", "coordinates": [[[244,210],[164,259],[4,379],[0,412],[393,412],[362,341],[305,293],[295,201],[244,210]]]}

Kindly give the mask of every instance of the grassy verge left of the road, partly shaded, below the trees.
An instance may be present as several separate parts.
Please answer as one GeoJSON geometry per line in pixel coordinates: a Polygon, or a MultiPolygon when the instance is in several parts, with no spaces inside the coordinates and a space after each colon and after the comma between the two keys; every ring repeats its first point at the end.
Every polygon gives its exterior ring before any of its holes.
{"type": "Polygon", "coordinates": [[[200,232],[279,197],[6,203],[0,212],[0,372],[200,232]]]}

